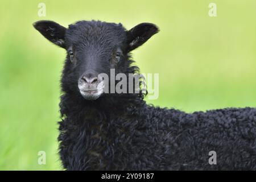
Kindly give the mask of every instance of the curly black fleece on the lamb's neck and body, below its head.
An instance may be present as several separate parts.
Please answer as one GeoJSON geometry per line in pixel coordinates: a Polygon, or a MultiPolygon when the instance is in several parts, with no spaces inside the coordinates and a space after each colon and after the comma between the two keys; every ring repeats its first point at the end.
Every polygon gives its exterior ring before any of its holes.
{"type": "Polygon", "coordinates": [[[254,108],[188,114],[131,95],[86,101],[67,93],[60,107],[60,157],[68,170],[256,169],[254,108]],[[216,165],[209,151],[216,151],[216,165]]]}

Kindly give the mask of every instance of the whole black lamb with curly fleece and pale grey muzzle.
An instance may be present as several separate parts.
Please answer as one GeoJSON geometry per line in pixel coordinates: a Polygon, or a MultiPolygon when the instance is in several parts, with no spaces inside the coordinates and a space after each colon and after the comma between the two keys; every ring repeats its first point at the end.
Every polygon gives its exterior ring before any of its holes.
{"type": "MultiPolygon", "coordinates": [[[[255,170],[256,108],[184,113],[147,105],[146,93],[106,93],[105,78],[139,73],[130,52],[159,29],[80,21],[34,27],[67,51],[59,154],[68,170],[255,170]]],[[[143,83],[140,80],[139,85],[143,83]]]]}

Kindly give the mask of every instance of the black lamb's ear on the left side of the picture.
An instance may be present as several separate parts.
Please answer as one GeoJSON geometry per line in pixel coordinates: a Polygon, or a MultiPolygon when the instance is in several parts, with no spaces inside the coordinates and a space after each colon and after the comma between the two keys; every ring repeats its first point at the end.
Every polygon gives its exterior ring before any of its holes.
{"type": "Polygon", "coordinates": [[[57,46],[65,48],[65,32],[67,28],[60,24],[48,20],[41,20],[33,24],[46,39],[56,44],[57,46]]]}

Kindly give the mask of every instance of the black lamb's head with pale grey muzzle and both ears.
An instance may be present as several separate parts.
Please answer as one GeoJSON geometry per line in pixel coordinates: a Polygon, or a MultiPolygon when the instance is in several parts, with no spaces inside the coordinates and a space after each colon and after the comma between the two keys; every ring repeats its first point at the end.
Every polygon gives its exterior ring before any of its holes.
{"type": "Polygon", "coordinates": [[[94,20],[76,22],[68,28],[41,20],[34,27],[67,51],[61,80],[63,91],[80,94],[86,100],[96,100],[110,90],[106,80],[112,69],[114,75],[133,73],[129,52],[159,31],[152,23],[141,23],[127,31],[121,23],[94,20]]]}

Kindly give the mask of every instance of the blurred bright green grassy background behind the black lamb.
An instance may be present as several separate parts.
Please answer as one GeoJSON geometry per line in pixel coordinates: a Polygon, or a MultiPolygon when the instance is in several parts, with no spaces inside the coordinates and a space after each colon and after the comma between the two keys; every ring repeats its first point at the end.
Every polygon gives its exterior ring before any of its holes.
{"type": "Polygon", "coordinates": [[[256,106],[256,1],[1,1],[0,169],[61,169],[57,155],[64,49],[32,27],[77,20],[141,22],[159,34],[135,50],[143,73],[159,73],[159,98],[148,103],[184,111],[256,106]],[[46,4],[46,17],[38,4],[46,4]],[[209,3],[217,17],[209,17],[209,3]],[[46,151],[46,165],[38,164],[46,151]]]}

